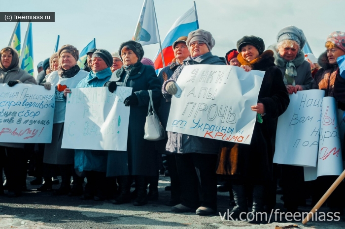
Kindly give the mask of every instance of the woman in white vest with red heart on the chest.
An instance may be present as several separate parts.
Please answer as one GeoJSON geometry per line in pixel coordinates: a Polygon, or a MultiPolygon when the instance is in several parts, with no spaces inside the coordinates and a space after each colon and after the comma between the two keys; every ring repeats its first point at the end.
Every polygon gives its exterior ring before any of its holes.
{"type": "Polygon", "coordinates": [[[53,119],[53,135],[52,143],[45,144],[43,163],[46,167],[44,181],[45,183],[38,189],[45,191],[52,188],[51,177],[52,171],[56,167],[59,168],[61,174],[61,186],[54,191],[56,195],[82,195],[83,186],[82,180],[78,177],[73,177],[73,190],[70,188],[70,177],[72,174],[74,164],[74,150],[61,148],[65,113],[66,113],[66,99],[64,97],[65,88],[75,88],[78,83],[84,79],[88,72],[80,70],[76,64],[79,58],[79,51],[72,45],[64,45],[58,51],[60,66],[57,71],[52,72],[48,78],[47,83],[42,84],[44,88],[55,90],[55,110],[53,119]]]}

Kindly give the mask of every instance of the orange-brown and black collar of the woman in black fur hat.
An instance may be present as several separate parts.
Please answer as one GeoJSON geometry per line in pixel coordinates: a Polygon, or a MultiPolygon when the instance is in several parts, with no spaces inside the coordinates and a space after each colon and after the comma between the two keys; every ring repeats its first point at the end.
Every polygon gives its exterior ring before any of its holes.
{"type": "Polygon", "coordinates": [[[259,57],[253,59],[252,61],[248,62],[245,60],[241,53],[237,56],[237,59],[241,63],[241,65],[248,65],[253,70],[261,70],[265,71],[268,67],[275,66],[275,58],[273,57],[272,50],[266,50],[263,52],[259,57]]]}

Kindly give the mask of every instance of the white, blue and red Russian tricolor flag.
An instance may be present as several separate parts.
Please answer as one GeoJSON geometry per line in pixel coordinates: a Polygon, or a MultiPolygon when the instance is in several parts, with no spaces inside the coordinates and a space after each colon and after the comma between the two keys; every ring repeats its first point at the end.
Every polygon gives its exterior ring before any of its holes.
{"type": "MultiPolygon", "coordinates": [[[[199,29],[199,23],[195,8],[190,8],[185,14],[179,17],[173,26],[169,29],[167,35],[162,43],[162,50],[164,62],[166,65],[170,63],[173,58],[173,42],[180,36],[188,36],[188,33],[199,29]]],[[[154,59],[155,69],[163,68],[162,56],[159,51],[154,59]]]]}

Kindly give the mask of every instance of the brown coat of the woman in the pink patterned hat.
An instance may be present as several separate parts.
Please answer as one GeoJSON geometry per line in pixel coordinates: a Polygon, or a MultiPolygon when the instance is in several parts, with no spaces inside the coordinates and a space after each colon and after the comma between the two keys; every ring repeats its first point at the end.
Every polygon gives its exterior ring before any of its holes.
{"type": "Polygon", "coordinates": [[[338,63],[330,64],[326,52],[320,55],[317,62],[321,68],[314,77],[312,89],[324,90],[325,97],[334,97],[335,81],[336,78],[340,77],[338,63]]]}

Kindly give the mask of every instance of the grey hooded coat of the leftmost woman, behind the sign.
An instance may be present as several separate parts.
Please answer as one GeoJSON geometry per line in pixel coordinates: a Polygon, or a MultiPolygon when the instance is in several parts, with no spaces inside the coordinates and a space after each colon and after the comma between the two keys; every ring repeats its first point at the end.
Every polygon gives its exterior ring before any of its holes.
{"type": "MultiPolygon", "coordinates": [[[[9,81],[15,80],[23,84],[37,84],[35,78],[28,72],[20,69],[18,65],[7,71],[0,67],[0,84],[7,84],[9,81]]],[[[24,148],[24,143],[0,143],[0,146],[24,148]]]]}

